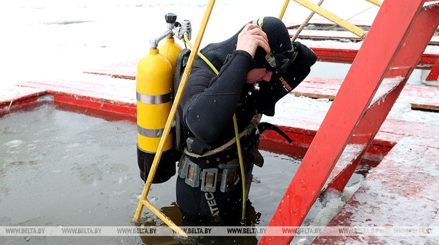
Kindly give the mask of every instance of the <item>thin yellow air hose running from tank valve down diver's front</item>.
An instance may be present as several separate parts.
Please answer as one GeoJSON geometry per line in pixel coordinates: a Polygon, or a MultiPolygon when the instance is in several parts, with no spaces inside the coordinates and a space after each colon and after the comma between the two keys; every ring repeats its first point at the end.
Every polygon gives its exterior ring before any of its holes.
{"type": "MultiPolygon", "coordinates": [[[[192,47],[191,42],[189,41],[188,37],[184,35],[185,42],[189,45],[189,47],[192,47]]],[[[198,51],[198,56],[200,56],[201,59],[204,60],[204,62],[212,69],[212,71],[218,75],[218,70],[210,63],[210,61],[204,56],[201,52],[198,51]]],[[[241,152],[241,143],[239,139],[239,131],[238,131],[238,122],[236,120],[236,115],[233,114],[233,126],[235,128],[235,137],[236,137],[236,145],[238,147],[238,158],[239,158],[239,166],[241,167],[241,178],[242,178],[242,217],[241,217],[241,224],[245,224],[245,204],[247,201],[246,195],[245,195],[245,172],[244,172],[244,161],[242,159],[242,152],[241,152]]]]}

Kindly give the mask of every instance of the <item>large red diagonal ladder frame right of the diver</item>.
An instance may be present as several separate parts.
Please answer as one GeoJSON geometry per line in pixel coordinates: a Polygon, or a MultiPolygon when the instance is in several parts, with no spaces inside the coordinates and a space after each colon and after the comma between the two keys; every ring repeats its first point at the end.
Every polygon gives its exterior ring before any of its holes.
{"type": "MultiPolygon", "coordinates": [[[[268,230],[300,226],[347,144],[363,144],[364,150],[371,144],[439,22],[439,7],[423,9],[424,2],[383,3],[268,230]],[[391,101],[369,109],[382,80],[396,76],[403,77],[399,85],[380,96],[391,101]]],[[[288,244],[292,238],[264,235],[259,244],[288,244]]]]}

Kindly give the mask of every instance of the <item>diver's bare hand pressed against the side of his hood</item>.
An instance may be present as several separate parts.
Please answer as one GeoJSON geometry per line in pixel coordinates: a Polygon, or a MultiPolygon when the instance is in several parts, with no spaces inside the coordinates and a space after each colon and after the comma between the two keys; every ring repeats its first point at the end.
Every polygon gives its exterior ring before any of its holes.
{"type": "Polygon", "coordinates": [[[262,47],[267,53],[270,52],[267,34],[265,34],[258,25],[249,23],[245,25],[244,29],[238,34],[236,50],[247,51],[251,57],[254,58],[257,47],[262,47]]]}

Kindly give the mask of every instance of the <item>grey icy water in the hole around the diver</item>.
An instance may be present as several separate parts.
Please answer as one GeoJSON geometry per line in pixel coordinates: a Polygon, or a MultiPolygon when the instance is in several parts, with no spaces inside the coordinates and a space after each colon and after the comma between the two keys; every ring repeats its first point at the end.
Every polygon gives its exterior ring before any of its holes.
{"type": "MultiPolygon", "coordinates": [[[[0,118],[0,226],[164,225],[146,208],[132,222],[143,181],[136,162],[136,125],[45,104],[0,118]]],[[[300,160],[262,151],[254,168],[249,222],[265,226],[300,160]]],[[[149,200],[177,224],[176,176],[152,186],[149,200]]],[[[255,237],[207,238],[203,244],[254,244],[255,237]],[[226,240],[224,240],[226,239],[226,240]]],[[[0,237],[0,244],[178,244],[172,237],[0,237]]],[[[198,244],[198,242],[189,242],[198,244]]]]}

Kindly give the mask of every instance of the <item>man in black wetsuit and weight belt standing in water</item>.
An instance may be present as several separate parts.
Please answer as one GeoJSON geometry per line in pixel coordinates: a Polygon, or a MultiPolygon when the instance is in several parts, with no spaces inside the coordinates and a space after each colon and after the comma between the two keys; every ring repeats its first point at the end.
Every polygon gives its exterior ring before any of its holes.
{"type": "MultiPolygon", "coordinates": [[[[203,155],[235,137],[234,113],[239,132],[257,113],[273,116],[276,102],[305,79],[316,56],[299,42],[292,44],[286,26],[274,17],[249,23],[233,37],[207,45],[201,53],[219,74],[198,57],[180,103],[187,149],[179,162],[177,204],[186,218],[224,224],[239,218],[241,212],[236,144],[210,156],[194,154],[203,155]]],[[[247,186],[253,164],[263,163],[257,152],[261,131],[254,129],[241,138],[247,186]]]]}

